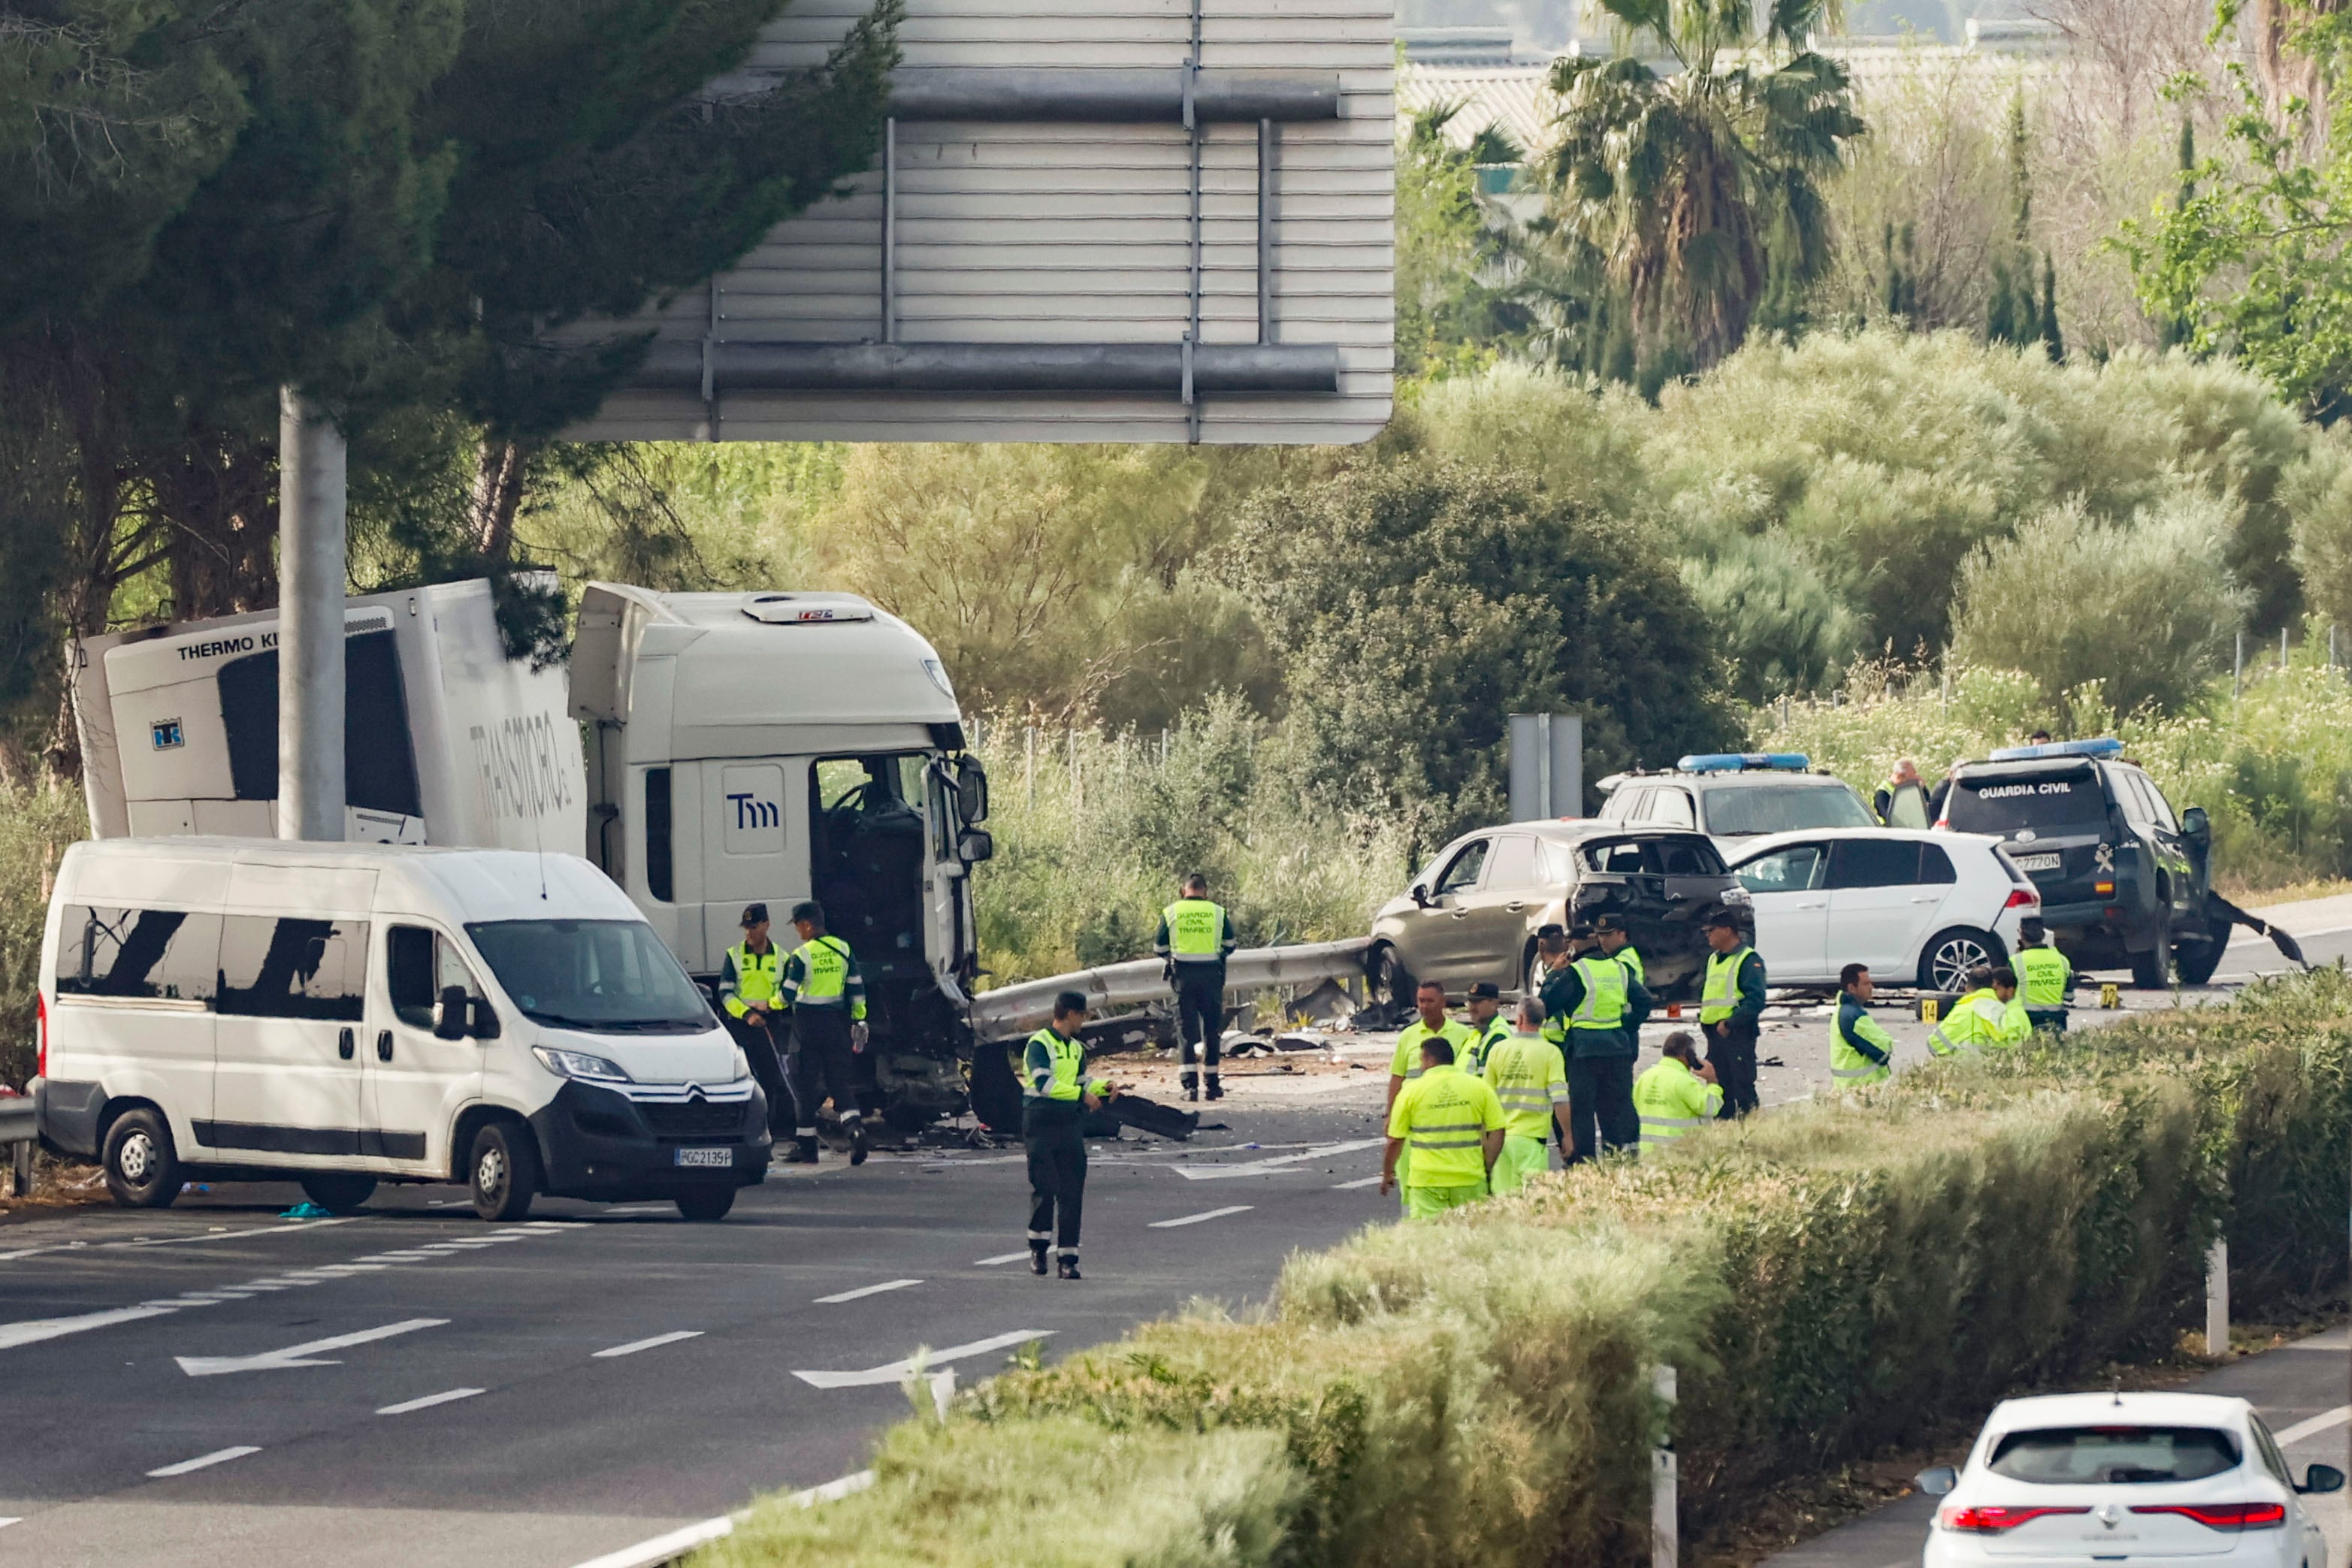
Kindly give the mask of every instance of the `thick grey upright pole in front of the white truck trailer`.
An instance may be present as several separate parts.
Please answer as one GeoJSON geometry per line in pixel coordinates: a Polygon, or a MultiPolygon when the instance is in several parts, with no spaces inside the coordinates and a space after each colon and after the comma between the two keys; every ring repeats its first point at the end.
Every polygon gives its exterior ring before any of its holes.
{"type": "Polygon", "coordinates": [[[278,837],[343,837],[343,433],[278,395],[278,837]]]}

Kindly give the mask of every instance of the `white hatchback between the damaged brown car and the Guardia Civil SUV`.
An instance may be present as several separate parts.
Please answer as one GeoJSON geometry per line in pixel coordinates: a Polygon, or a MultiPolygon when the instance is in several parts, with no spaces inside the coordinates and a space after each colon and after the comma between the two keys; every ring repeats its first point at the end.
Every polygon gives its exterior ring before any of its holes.
{"type": "Polygon", "coordinates": [[[1773,985],[1837,985],[1867,964],[1884,985],[1964,990],[1971,964],[2018,950],[2042,912],[2032,879],[1980,832],[1825,827],[1748,839],[1731,875],[1755,900],[1773,985]]]}

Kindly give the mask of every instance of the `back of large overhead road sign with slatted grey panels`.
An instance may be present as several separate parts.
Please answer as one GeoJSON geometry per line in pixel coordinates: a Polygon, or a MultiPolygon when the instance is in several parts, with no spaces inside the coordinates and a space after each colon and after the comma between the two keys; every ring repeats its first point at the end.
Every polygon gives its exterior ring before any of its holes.
{"type": "MultiPolygon", "coordinates": [[[[795,2],[713,92],[821,61],[861,9],[795,2]]],[[[910,0],[882,167],[654,313],[574,435],[1369,440],[1392,33],[1383,0],[910,0]]]]}

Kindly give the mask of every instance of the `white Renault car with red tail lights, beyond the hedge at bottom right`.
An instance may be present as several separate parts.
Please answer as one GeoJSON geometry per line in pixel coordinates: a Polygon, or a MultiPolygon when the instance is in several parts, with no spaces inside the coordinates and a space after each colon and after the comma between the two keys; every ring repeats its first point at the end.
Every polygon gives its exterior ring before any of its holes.
{"type": "Polygon", "coordinates": [[[2303,1512],[2345,1472],[2298,1483],[2244,1399],[2216,1394],[2044,1394],[2006,1399],[1957,1472],[1919,1474],[1940,1495],[1924,1568],[2197,1563],[2326,1568],[2303,1512]]]}

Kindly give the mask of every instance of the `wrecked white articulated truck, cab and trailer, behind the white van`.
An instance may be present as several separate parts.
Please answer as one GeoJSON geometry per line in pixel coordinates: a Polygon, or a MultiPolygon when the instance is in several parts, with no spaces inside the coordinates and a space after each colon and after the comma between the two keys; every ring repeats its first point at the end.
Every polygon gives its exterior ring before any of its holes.
{"type": "MultiPolygon", "coordinates": [[[[534,670],[480,581],[355,597],[343,625],[346,837],[583,853],[706,983],[746,903],[816,898],[866,971],[884,1114],[962,1107],[988,780],[915,628],[840,592],[593,583],[569,670],[534,670]]],[[[273,832],[275,630],[73,649],[94,837],[273,832]]]]}

